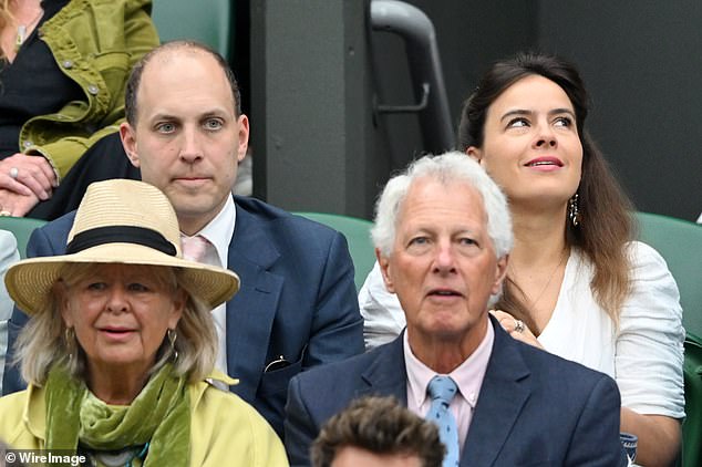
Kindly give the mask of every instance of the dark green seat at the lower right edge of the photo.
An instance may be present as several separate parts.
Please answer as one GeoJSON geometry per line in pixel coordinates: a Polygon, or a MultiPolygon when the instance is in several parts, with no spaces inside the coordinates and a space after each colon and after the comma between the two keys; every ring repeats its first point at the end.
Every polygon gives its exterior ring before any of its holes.
{"type": "Polygon", "coordinates": [[[682,424],[682,466],[702,466],[702,339],[685,339],[685,421],[682,424]]]}

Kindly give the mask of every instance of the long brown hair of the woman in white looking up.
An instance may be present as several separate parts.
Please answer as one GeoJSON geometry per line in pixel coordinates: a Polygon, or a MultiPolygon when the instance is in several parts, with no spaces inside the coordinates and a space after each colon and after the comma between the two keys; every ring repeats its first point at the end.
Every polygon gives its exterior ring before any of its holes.
{"type": "MultiPolygon", "coordinates": [[[[564,219],[566,245],[579,249],[593,264],[590,287],[595,299],[618,323],[619,311],[631,287],[626,243],[632,238],[629,215],[632,205],[585,127],[589,98],[578,70],[560,58],[544,53],[519,53],[495,63],[464,103],[458,125],[460,148],[465,152],[469,146],[483,146],[485,118],[492,103],[507,87],[530,75],[558,84],[575,108],[582,145],[582,176],[577,190],[581,218],[577,227],[567,217],[564,219]]],[[[536,329],[520,295],[519,287],[507,277],[503,298],[496,307],[536,329]]]]}

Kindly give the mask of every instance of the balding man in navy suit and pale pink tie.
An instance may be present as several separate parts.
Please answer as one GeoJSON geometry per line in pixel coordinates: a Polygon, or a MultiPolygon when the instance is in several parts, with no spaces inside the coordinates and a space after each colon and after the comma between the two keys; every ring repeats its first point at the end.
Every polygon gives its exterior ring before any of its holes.
{"type": "MultiPolygon", "coordinates": [[[[215,313],[217,367],[230,390],[282,432],[290,377],[363,352],[363,321],[343,236],[262,201],[231,195],[249,136],[234,73],[205,45],[169,42],[136,64],[122,142],[142,178],[173,204],[184,252],[235,270],[241,290],[215,313]],[[203,85],[207,83],[207,85],[203,85]]],[[[28,256],[62,253],[70,214],[34,231],[28,256]]],[[[16,309],[10,344],[27,316],[16,309]]],[[[6,369],[6,393],[22,387],[6,369]]]]}

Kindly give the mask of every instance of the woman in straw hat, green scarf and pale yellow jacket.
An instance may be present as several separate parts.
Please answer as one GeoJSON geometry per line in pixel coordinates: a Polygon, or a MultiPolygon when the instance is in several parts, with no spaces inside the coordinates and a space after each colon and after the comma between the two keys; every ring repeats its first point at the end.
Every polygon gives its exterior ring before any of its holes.
{"type": "Polygon", "coordinates": [[[6,277],[31,316],[17,353],[30,384],[0,398],[0,438],[93,465],[287,465],[266,421],[208,383],[236,384],[213,373],[209,310],[239,279],[182,259],[168,199],[141,181],[93,184],[68,241],[6,277]]]}

